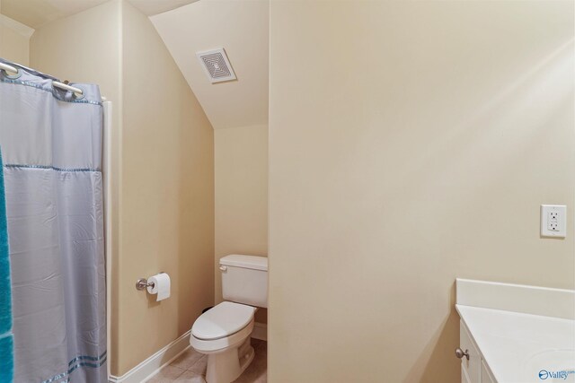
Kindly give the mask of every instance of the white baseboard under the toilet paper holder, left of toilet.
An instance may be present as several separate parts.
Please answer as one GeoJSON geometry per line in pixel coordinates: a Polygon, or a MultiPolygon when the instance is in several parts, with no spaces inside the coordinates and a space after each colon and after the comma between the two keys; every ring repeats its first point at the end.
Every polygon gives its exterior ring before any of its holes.
{"type": "Polygon", "coordinates": [[[144,382],[152,378],[164,366],[170,364],[174,359],[180,356],[181,353],[188,350],[188,347],[190,347],[190,330],[121,377],[111,375],[108,381],[110,383],[144,382]]]}

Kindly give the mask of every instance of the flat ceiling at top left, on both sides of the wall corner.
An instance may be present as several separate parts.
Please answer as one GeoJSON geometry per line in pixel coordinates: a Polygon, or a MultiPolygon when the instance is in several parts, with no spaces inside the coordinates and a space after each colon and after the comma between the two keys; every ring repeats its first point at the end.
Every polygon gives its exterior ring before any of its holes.
{"type": "MultiPolygon", "coordinates": [[[[2,13],[11,19],[37,29],[75,13],[80,13],[109,0],[0,0],[2,13]]],[[[128,0],[148,16],[173,10],[198,0],[128,0]]]]}

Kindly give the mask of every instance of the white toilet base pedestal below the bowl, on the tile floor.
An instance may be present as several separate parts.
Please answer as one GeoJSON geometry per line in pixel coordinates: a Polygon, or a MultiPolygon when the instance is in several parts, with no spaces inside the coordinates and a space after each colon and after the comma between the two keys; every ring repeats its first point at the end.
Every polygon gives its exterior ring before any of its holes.
{"type": "Polygon", "coordinates": [[[242,372],[253,361],[255,352],[252,347],[252,337],[248,336],[243,344],[223,353],[208,354],[208,383],[231,383],[238,379],[242,372]]]}

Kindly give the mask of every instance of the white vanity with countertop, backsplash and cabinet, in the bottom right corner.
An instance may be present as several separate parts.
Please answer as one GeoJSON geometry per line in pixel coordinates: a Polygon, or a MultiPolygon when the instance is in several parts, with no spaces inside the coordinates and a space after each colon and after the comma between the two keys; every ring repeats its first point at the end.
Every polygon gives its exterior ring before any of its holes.
{"type": "Polygon", "coordinates": [[[575,290],[457,278],[456,292],[462,382],[567,381],[542,369],[575,361],[575,290]]]}

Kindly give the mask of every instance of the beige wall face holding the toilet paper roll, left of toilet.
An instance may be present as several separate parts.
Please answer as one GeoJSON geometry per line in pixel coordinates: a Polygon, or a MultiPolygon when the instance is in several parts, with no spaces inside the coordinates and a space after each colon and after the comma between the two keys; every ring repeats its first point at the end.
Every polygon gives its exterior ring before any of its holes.
{"type": "Polygon", "coordinates": [[[149,19],[123,6],[119,372],[190,330],[214,303],[214,133],[149,19]],[[164,271],[172,297],[137,292],[164,271]]]}

